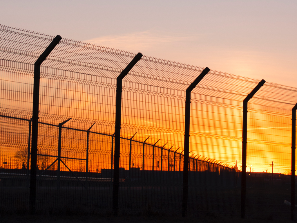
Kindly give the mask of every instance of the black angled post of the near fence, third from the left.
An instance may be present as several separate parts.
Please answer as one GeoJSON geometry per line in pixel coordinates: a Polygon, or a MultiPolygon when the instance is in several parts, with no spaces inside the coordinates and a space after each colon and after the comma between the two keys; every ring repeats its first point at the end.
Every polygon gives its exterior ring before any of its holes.
{"type": "Polygon", "coordinates": [[[193,81],[186,90],[185,106],[185,135],[184,135],[184,174],[183,174],[183,200],[182,216],[187,216],[188,208],[188,181],[189,181],[189,140],[190,140],[190,110],[191,110],[191,91],[204,78],[210,69],[206,67],[200,75],[193,81]]]}

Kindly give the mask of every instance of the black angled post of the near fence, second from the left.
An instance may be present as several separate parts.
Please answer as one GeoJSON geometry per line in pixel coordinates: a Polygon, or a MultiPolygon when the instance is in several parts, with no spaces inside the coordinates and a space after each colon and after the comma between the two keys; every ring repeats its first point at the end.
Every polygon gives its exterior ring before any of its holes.
{"type": "Polygon", "coordinates": [[[118,212],[119,205],[119,165],[120,165],[120,143],[121,143],[121,104],[122,104],[122,80],[129,73],[132,67],[142,57],[138,53],[127,67],[116,78],[116,123],[115,123],[115,146],[114,146],[114,170],[113,170],[113,211],[114,214],[118,212]]]}

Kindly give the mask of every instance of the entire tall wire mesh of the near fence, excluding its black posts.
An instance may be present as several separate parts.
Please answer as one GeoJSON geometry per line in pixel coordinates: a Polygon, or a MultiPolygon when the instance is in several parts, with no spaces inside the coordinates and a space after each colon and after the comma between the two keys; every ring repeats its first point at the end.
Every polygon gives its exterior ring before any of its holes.
{"type": "MultiPolygon", "coordinates": [[[[34,62],[52,39],[0,26],[0,199],[6,211],[28,209],[34,62]]],[[[116,77],[134,56],[62,39],[42,63],[37,211],[110,211],[116,77]],[[59,123],[69,118],[61,127],[57,169],[59,123]]],[[[185,90],[202,70],[143,56],[124,78],[123,213],[181,212],[185,90]]],[[[258,82],[211,70],[192,91],[190,214],[239,215],[242,102],[258,82]]],[[[289,216],[296,91],[266,82],[249,101],[247,217],[289,216]]]]}

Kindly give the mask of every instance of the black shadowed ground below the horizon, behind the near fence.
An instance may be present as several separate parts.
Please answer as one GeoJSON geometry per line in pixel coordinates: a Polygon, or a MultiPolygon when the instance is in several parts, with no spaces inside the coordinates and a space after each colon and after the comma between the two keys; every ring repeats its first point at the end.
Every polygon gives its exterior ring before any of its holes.
{"type": "Polygon", "coordinates": [[[191,174],[193,181],[189,184],[187,218],[180,216],[181,180],[175,181],[171,175],[167,176],[167,181],[162,178],[152,182],[150,179],[122,182],[119,188],[120,215],[115,217],[111,215],[110,180],[90,181],[86,190],[76,179],[61,180],[59,189],[56,178],[39,179],[38,214],[30,216],[26,214],[29,209],[26,179],[5,174],[1,178],[0,174],[0,222],[292,222],[289,220],[290,206],[286,203],[290,201],[288,175],[255,173],[253,176],[250,173],[247,178],[247,219],[240,219],[241,180],[237,175],[233,172],[191,174]]]}

